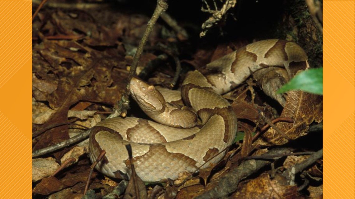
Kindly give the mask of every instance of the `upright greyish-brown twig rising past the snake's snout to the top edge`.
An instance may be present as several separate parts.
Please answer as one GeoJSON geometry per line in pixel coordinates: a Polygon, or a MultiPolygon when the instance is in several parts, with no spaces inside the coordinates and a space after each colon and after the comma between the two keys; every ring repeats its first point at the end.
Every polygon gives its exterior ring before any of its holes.
{"type": "MultiPolygon", "coordinates": [[[[133,75],[136,73],[136,69],[137,69],[140,57],[143,53],[143,47],[146,44],[146,42],[148,41],[149,35],[151,34],[151,32],[154,28],[154,25],[157,22],[157,19],[159,18],[161,13],[164,12],[166,9],[168,9],[168,3],[166,2],[166,0],[158,0],[157,6],[155,7],[155,10],[153,13],[153,16],[148,21],[147,28],[144,31],[143,37],[138,44],[136,54],[133,57],[131,69],[130,69],[130,72],[128,75],[129,81],[132,79],[133,75]]],[[[126,92],[122,95],[121,101],[118,103],[118,108],[116,108],[114,113],[109,115],[108,118],[115,118],[115,117],[118,117],[119,115],[126,116],[127,109],[129,107],[128,93],[129,93],[129,83],[126,86],[126,92]]]]}

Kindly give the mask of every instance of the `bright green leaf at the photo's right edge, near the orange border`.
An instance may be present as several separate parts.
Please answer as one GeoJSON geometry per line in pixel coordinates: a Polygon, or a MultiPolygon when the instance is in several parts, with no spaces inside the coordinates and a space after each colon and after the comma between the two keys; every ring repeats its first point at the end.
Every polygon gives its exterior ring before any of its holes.
{"type": "Polygon", "coordinates": [[[301,90],[323,95],[323,68],[312,68],[297,74],[287,84],[283,85],[277,93],[289,90],[301,90]]]}

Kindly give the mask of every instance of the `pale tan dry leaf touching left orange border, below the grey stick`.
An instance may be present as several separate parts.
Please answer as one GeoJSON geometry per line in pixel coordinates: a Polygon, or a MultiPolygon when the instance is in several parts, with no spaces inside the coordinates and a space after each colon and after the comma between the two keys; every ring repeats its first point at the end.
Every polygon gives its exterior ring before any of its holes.
{"type": "Polygon", "coordinates": [[[54,158],[32,159],[32,182],[41,180],[53,174],[59,167],[54,158]]]}

